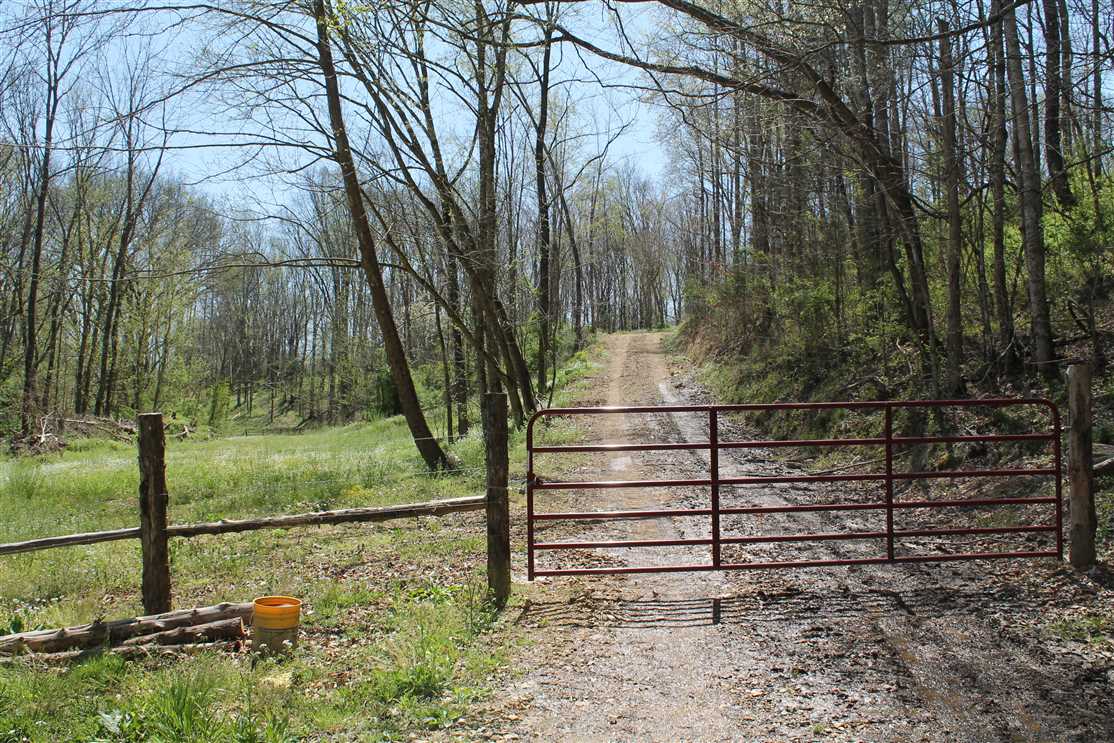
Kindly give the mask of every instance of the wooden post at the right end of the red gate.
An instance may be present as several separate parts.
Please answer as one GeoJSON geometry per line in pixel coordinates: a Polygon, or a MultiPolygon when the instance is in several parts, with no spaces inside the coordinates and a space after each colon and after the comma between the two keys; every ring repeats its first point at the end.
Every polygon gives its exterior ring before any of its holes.
{"type": "Polygon", "coordinates": [[[1091,441],[1091,364],[1067,368],[1067,409],[1072,417],[1068,430],[1067,471],[1071,478],[1068,498],[1068,560],[1076,570],[1095,564],[1095,489],[1094,460],[1091,441]]]}

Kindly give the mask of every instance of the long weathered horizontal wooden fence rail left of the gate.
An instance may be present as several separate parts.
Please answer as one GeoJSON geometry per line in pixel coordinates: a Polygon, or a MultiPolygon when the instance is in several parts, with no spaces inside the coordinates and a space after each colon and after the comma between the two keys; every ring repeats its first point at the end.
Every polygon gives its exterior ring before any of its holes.
{"type": "MultiPolygon", "coordinates": [[[[379,508],[343,508],[335,511],[314,511],[312,514],[292,514],[289,516],[268,516],[257,519],[223,520],[208,524],[183,524],[168,527],[169,537],[197,537],[205,534],[232,534],[235,531],[255,531],[257,529],[285,529],[297,526],[323,526],[326,524],[352,524],[390,521],[392,519],[412,518],[419,516],[443,516],[459,511],[483,510],[483,496],[467,498],[450,498],[448,500],[431,500],[424,504],[407,504],[404,506],[384,506],[379,508]]],[[[71,534],[63,537],[43,537],[27,541],[13,541],[0,545],[0,555],[33,553],[55,547],[74,545],[95,545],[101,541],[120,539],[138,539],[139,528],[111,529],[109,531],[90,531],[71,534]]]]}

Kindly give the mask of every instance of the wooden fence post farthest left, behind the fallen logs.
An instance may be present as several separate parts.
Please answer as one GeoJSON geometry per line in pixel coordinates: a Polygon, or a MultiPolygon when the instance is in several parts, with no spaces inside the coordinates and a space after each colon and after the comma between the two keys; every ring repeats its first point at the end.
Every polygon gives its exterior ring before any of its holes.
{"type": "Polygon", "coordinates": [[[143,550],[143,607],[147,614],[170,610],[166,501],[163,413],[144,413],[139,416],[139,545],[143,550]]]}

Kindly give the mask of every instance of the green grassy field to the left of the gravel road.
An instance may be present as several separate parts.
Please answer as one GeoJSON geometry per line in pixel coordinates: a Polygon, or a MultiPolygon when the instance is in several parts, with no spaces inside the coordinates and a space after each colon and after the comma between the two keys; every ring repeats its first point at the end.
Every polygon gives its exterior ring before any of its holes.
{"type": "MultiPolygon", "coordinates": [[[[559,397],[575,394],[589,368],[575,358],[559,397]]],[[[522,433],[511,443],[511,478],[520,479],[522,433]]],[[[172,442],[170,521],[482,492],[479,431],[452,451],[460,473],[424,473],[401,418],[172,442]]],[[[60,456],[0,460],[0,541],[135,526],[137,487],[136,453],[126,444],[88,440],[60,456]]],[[[407,739],[451,726],[485,695],[512,642],[489,632],[498,618],[482,583],[482,514],[170,545],[176,607],[302,597],[307,608],[293,656],[0,665],[0,743],[407,739]]],[[[0,634],[141,614],[138,586],[135,540],[0,558],[0,634]]]]}

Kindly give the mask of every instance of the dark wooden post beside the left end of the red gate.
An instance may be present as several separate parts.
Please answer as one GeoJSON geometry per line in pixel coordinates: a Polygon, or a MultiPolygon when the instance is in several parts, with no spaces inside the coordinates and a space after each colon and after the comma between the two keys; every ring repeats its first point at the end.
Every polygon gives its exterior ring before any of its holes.
{"type": "Polygon", "coordinates": [[[507,498],[507,394],[483,395],[487,462],[488,592],[502,608],[510,597],[510,505],[507,498]]]}

